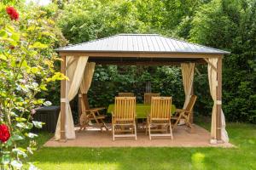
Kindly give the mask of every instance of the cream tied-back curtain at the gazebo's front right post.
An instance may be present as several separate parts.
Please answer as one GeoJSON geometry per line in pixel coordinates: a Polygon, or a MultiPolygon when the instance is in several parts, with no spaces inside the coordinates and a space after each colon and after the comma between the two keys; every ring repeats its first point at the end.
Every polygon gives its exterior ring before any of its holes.
{"type": "MultiPolygon", "coordinates": [[[[212,126],[211,126],[211,138],[213,140],[217,139],[217,134],[216,134],[216,129],[217,129],[217,120],[216,120],[216,115],[217,115],[217,86],[218,86],[218,80],[217,80],[217,64],[218,64],[218,59],[217,58],[211,58],[208,59],[208,79],[209,79],[209,86],[210,86],[210,92],[212,95],[213,99],[213,107],[212,107],[212,126]],[[214,68],[212,68],[215,67],[214,68]]],[[[229,142],[229,136],[228,133],[225,129],[225,117],[224,117],[224,112],[221,110],[221,139],[224,142],[229,142]]],[[[216,141],[215,141],[216,142],[216,141]]]]}

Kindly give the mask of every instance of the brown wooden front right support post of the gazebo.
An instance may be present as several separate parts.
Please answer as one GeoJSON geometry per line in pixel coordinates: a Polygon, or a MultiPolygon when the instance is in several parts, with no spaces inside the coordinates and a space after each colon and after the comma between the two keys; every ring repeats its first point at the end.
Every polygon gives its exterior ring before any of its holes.
{"type": "Polygon", "coordinates": [[[217,93],[217,114],[216,114],[216,123],[217,123],[217,129],[216,129],[216,136],[217,136],[217,141],[218,142],[222,142],[221,141],[221,127],[222,127],[222,123],[221,123],[221,111],[222,111],[222,56],[218,57],[218,64],[217,64],[217,80],[218,80],[218,86],[216,89],[216,93],[217,93]]]}

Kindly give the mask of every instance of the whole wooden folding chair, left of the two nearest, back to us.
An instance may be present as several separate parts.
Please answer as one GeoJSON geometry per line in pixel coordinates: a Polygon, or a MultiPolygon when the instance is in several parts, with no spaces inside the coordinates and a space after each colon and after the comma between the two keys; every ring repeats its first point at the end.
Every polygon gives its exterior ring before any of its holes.
{"type": "Polygon", "coordinates": [[[113,141],[116,137],[135,137],[137,140],[135,116],[136,97],[115,97],[112,113],[113,141]],[[127,132],[131,133],[120,134],[127,132]]]}

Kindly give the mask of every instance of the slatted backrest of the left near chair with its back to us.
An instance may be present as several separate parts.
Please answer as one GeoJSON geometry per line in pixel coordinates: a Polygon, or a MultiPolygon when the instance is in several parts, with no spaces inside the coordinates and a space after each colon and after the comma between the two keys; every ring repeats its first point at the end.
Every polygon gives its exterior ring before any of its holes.
{"type": "Polygon", "coordinates": [[[113,113],[116,120],[134,120],[136,97],[115,97],[113,113]]]}

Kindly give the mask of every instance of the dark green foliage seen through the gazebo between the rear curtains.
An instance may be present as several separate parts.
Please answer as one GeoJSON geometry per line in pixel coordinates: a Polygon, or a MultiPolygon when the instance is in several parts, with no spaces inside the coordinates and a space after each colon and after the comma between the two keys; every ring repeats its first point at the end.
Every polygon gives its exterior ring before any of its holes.
{"type": "Polygon", "coordinates": [[[175,105],[183,105],[183,82],[177,67],[96,65],[89,90],[90,105],[108,106],[119,92],[133,92],[137,103],[143,103],[146,82],[152,92],[172,95],[175,105]]]}

